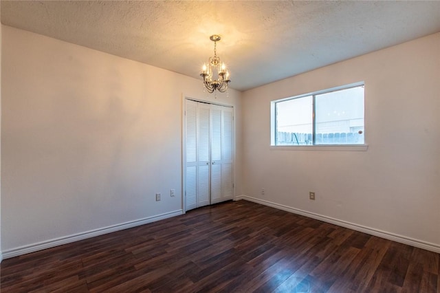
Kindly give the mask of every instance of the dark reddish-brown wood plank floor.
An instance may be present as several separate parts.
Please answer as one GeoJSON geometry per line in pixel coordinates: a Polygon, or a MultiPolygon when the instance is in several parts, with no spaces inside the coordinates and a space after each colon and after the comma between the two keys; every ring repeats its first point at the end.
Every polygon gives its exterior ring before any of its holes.
{"type": "Polygon", "coordinates": [[[439,254],[226,202],[5,259],[1,292],[440,292],[439,254]]]}

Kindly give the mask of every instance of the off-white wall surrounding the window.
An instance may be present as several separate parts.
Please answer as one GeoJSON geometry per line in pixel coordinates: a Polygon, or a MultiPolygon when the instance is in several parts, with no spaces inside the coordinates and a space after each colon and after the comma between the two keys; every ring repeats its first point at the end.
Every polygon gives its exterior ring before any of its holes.
{"type": "Polygon", "coordinates": [[[440,252],[439,93],[440,33],[245,91],[243,195],[440,252]],[[368,151],[270,148],[271,100],[362,80],[368,151]]]}

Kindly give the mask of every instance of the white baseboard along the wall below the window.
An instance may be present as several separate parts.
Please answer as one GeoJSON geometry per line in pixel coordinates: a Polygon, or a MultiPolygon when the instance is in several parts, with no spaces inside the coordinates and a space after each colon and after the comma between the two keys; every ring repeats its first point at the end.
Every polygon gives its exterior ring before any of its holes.
{"type": "Polygon", "coordinates": [[[417,240],[417,239],[412,239],[410,237],[405,237],[402,235],[397,235],[391,232],[386,232],[386,231],[382,231],[382,230],[378,230],[375,228],[370,228],[370,227],[366,227],[366,226],[362,226],[362,225],[358,225],[358,224],[354,224],[354,223],[350,223],[348,221],[342,221],[340,219],[334,219],[331,217],[327,217],[324,215],[318,215],[316,213],[311,213],[311,212],[307,212],[306,210],[300,210],[298,208],[292,208],[290,206],[285,206],[283,204],[276,204],[274,202],[269,202],[267,200],[263,200],[263,199],[258,199],[255,197],[250,197],[247,195],[239,195],[237,197],[234,198],[234,200],[240,200],[240,199],[245,199],[248,200],[249,202],[255,202],[257,204],[263,204],[265,206],[271,206],[272,208],[278,208],[278,210],[285,210],[286,212],[289,213],[294,213],[294,214],[298,214],[298,215],[303,215],[305,217],[309,217],[312,219],[318,219],[320,221],[325,221],[327,223],[330,224],[334,224],[337,226],[341,226],[344,228],[349,228],[351,230],[356,230],[359,232],[364,232],[366,234],[369,235],[374,235],[377,237],[381,237],[384,239],[388,239],[388,240],[392,240],[392,241],[396,241],[399,243],[404,243],[410,246],[414,246],[417,248],[422,248],[425,250],[430,250],[433,252],[437,252],[440,253],[440,246],[434,243],[429,243],[426,241],[421,241],[421,240],[417,240]]]}

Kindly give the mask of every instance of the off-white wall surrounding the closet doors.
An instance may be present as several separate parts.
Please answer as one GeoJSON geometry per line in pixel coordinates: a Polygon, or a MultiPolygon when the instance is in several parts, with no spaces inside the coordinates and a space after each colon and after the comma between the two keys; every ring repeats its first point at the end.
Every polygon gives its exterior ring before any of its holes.
{"type": "MultiPolygon", "coordinates": [[[[181,97],[214,101],[201,80],[2,28],[3,257],[181,212],[181,97]]],[[[240,113],[240,95],[230,90],[215,102],[240,113]]]]}

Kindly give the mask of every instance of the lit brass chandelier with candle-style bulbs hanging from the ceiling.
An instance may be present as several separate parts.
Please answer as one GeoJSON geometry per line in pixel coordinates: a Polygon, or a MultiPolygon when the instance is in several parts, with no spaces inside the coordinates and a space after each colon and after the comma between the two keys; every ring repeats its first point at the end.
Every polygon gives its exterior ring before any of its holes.
{"type": "Polygon", "coordinates": [[[217,42],[220,41],[221,37],[213,34],[209,39],[214,42],[214,57],[209,58],[208,65],[203,64],[203,72],[200,76],[203,77],[203,85],[210,94],[216,89],[223,93],[228,89],[231,80],[225,63],[222,63],[220,58],[217,57],[217,42]],[[214,75],[214,72],[216,75],[214,75]]]}

